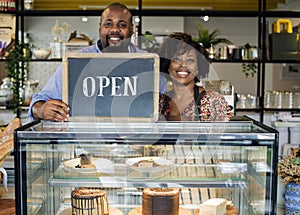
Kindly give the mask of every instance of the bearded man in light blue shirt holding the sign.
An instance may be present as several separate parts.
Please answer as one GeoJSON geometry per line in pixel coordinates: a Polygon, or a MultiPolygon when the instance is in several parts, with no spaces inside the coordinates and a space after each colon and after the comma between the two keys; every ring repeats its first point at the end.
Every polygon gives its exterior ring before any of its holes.
{"type": "MultiPolygon", "coordinates": [[[[112,3],[103,10],[101,15],[100,40],[80,52],[100,53],[110,47],[118,46],[126,52],[144,52],[130,43],[132,34],[131,12],[121,3],[112,3]]],[[[33,120],[68,121],[69,110],[70,107],[62,101],[62,66],[60,66],[41,92],[33,95],[29,116],[33,120]]]]}

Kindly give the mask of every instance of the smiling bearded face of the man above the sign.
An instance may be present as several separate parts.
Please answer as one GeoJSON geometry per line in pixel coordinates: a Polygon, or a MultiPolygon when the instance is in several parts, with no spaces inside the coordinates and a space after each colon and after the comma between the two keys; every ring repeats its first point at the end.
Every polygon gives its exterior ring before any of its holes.
{"type": "Polygon", "coordinates": [[[103,11],[99,26],[102,48],[116,46],[129,39],[133,33],[131,14],[121,8],[108,8],[103,11]]]}

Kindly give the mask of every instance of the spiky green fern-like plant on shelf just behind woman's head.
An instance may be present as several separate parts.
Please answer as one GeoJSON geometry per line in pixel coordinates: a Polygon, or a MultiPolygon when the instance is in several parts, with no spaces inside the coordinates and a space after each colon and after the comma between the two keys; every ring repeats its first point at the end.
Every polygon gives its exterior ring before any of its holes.
{"type": "Polygon", "coordinates": [[[218,29],[209,32],[200,22],[196,23],[198,37],[194,37],[193,40],[195,42],[201,43],[204,48],[209,49],[211,46],[218,45],[220,43],[231,45],[233,44],[230,40],[226,38],[219,37],[221,31],[218,29]]]}

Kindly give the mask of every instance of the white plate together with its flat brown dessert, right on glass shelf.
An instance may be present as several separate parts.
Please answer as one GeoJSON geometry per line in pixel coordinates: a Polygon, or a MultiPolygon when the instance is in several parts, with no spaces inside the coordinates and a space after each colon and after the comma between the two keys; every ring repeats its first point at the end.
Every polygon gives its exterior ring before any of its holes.
{"type": "Polygon", "coordinates": [[[170,169],[174,161],[162,157],[137,157],[129,158],[125,163],[130,168],[139,172],[158,172],[170,169]],[[145,165],[142,164],[143,162],[145,162],[145,165]],[[149,163],[149,165],[147,165],[147,163],[149,163]],[[151,166],[151,163],[153,166],[151,166]]]}

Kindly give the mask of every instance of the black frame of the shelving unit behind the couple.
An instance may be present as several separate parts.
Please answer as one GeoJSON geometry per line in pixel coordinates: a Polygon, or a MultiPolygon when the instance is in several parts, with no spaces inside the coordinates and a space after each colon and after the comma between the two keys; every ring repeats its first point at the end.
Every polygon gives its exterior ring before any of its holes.
{"type": "MultiPolygon", "coordinates": [[[[266,39],[269,34],[269,29],[266,29],[267,19],[274,17],[300,17],[300,12],[293,11],[267,11],[266,3],[268,0],[259,0],[257,11],[214,11],[214,10],[153,10],[153,9],[143,9],[143,1],[139,0],[137,3],[137,9],[131,10],[133,16],[138,16],[141,20],[141,24],[138,28],[138,33],[141,35],[141,29],[143,24],[143,17],[147,16],[185,16],[185,17],[200,17],[208,15],[210,17],[250,17],[257,18],[258,23],[258,35],[257,35],[257,47],[261,50],[261,57],[257,60],[213,60],[213,63],[251,63],[257,64],[257,89],[256,96],[258,98],[257,108],[238,108],[237,112],[255,112],[259,114],[260,121],[263,122],[265,111],[293,111],[298,112],[300,109],[274,109],[266,108],[264,106],[264,91],[265,91],[265,76],[266,76],[266,65],[267,64],[277,64],[277,63],[298,63],[296,60],[270,60],[267,59],[267,47],[266,39]]],[[[15,14],[17,17],[17,29],[24,32],[24,19],[25,17],[36,17],[36,16],[99,16],[99,10],[24,10],[24,0],[18,0],[17,8],[15,12],[9,12],[15,14]]],[[[18,35],[16,35],[18,37],[18,35]]],[[[21,34],[21,41],[24,40],[24,35],[21,34]]],[[[60,61],[59,59],[50,60],[32,60],[35,61],[60,61]]]]}

